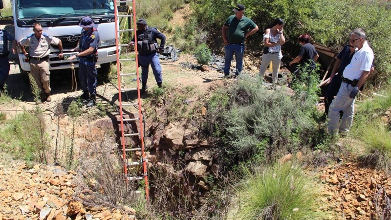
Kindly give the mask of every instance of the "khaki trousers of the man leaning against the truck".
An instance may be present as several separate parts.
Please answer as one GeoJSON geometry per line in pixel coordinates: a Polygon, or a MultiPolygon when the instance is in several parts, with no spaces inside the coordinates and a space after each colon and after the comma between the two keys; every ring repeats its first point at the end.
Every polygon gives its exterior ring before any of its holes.
{"type": "Polygon", "coordinates": [[[38,87],[45,93],[50,93],[50,71],[47,60],[30,60],[30,72],[38,87]]]}

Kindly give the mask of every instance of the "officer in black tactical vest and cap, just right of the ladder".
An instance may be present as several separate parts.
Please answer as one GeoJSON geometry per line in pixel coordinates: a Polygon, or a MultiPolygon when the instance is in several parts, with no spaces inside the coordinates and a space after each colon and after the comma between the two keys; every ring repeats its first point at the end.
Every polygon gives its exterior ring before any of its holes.
{"type": "MultiPolygon", "coordinates": [[[[156,28],[149,27],[147,21],[140,19],[137,24],[137,50],[138,50],[138,64],[141,66],[141,80],[143,87],[141,93],[145,92],[147,88],[148,70],[151,64],[153,75],[157,86],[162,87],[162,67],[159,63],[159,54],[164,50],[164,44],[166,44],[166,36],[160,33],[156,28]],[[160,39],[160,46],[157,44],[156,39],[160,39]]],[[[134,37],[129,43],[134,45],[134,37]]]]}

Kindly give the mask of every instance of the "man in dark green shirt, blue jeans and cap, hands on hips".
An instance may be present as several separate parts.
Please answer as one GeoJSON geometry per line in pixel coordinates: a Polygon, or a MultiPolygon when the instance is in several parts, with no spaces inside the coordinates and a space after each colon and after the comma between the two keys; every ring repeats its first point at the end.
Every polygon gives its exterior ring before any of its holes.
{"type": "Polygon", "coordinates": [[[258,31],[258,25],[243,15],[244,6],[242,4],[237,4],[232,11],[235,12],[235,15],[228,17],[221,29],[225,45],[224,77],[227,77],[230,73],[234,54],[236,59],[235,76],[238,76],[242,71],[244,39],[258,31]]]}

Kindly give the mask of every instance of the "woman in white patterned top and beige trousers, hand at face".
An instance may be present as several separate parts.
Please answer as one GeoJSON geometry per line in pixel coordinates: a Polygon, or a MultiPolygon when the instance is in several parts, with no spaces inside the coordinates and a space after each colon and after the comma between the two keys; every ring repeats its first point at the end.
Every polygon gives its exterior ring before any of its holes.
{"type": "Polygon", "coordinates": [[[281,45],[285,43],[285,37],[282,32],[283,27],[284,21],[281,18],[277,18],[265,30],[263,35],[263,43],[267,48],[263,51],[260,76],[263,79],[267,66],[272,62],[273,83],[277,82],[278,69],[282,59],[281,45]]]}

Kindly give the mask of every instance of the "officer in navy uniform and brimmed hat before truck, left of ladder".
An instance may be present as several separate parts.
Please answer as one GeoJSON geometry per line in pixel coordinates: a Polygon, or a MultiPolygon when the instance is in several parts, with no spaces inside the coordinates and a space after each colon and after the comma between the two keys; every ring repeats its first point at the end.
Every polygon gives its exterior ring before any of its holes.
{"type": "MultiPolygon", "coordinates": [[[[83,89],[80,98],[89,99],[87,107],[95,105],[96,102],[96,76],[98,71],[95,64],[98,60],[99,33],[94,25],[95,23],[90,17],[84,17],[79,23],[83,30],[77,46],[79,53],[76,54],[79,59],[79,80],[83,89]]],[[[75,59],[75,56],[68,58],[68,60],[72,59],[75,59]]]]}

